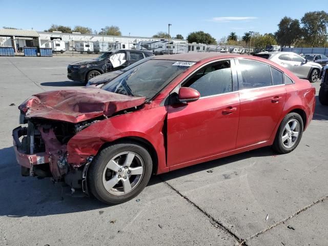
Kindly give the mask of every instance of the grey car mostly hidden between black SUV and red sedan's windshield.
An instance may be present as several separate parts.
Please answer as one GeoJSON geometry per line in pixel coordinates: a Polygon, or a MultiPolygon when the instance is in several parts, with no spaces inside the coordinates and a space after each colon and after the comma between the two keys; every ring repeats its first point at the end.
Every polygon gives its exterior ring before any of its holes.
{"type": "Polygon", "coordinates": [[[145,61],[147,60],[150,60],[152,59],[154,56],[148,56],[144,59],[141,59],[141,60],[138,60],[136,61],[135,63],[133,63],[132,65],[128,66],[128,67],[125,67],[123,69],[120,69],[120,70],[116,70],[116,71],[113,71],[113,72],[109,72],[109,73],[105,73],[105,74],[101,74],[99,76],[96,76],[96,77],[93,77],[91,78],[88,83],[87,83],[87,87],[89,86],[101,86],[105,83],[107,83],[108,81],[111,81],[113,80],[114,78],[116,78],[118,75],[134,68],[135,66],[138,66],[139,64],[141,63],[144,63],[145,61]]]}

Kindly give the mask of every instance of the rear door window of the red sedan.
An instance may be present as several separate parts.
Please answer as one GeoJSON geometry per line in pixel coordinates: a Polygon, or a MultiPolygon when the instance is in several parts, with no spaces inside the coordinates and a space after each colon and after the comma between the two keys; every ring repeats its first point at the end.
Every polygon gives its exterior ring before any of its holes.
{"type": "Polygon", "coordinates": [[[239,59],[239,65],[242,75],[242,81],[238,80],[239,90],[272,86],[269,65],[244,59],[239,59]]]}

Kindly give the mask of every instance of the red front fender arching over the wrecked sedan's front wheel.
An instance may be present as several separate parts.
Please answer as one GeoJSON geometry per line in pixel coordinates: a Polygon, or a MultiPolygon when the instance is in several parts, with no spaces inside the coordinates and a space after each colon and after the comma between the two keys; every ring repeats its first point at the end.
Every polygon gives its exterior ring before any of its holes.
{"type": "Polygon", "coordinates": [[[160,101],[152,101],[139,111],[95,122],[80,131],[68,142],[68,162],[79,167],[86,163],[86,157],[96,155],[104,144],[121,138],[138,137],[147,140],[154,147],[158,158],[157,174],[168,172],[164,124],[167,107],[159,106],[160,101]]]}

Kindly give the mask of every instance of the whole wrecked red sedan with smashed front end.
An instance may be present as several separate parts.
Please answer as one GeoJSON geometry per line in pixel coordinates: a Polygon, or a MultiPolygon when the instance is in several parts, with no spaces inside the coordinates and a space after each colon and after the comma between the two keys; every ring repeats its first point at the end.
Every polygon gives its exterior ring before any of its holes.
{"type": "Polygon", "coordinates": [[[51,176],[100,201],[138,195],[151,174],[272,146],[293,151],[315,88],[256,56],[156,56],[102,89],[33,95],[13,130],[22,174],[51,176]],[[22,141],[20,141],[22,139],[22,141]]]}

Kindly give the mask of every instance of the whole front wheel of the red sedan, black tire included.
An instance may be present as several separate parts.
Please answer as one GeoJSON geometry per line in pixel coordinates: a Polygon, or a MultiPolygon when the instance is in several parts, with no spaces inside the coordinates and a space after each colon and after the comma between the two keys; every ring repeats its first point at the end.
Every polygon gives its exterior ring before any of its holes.
{"type": "Polygon", "coordinates": [[[144,190],[152,168],[147,149],[127,141],[97,154],[88,171],[88,185],[91,193],[102,202],[126,202],[144,190]]]}

